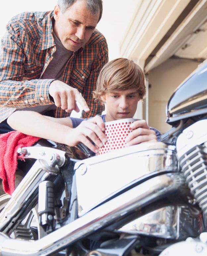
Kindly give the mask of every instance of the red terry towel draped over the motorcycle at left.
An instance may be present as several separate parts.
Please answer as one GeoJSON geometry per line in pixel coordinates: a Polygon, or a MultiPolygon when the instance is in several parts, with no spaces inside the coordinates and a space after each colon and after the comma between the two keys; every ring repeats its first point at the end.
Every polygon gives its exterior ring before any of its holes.
{"type": "Polygon", "coordinates": [[[30,147],[39,139],[18,131],[0,135],[0,178],[6,193],[11,195],[15,190],[18,148],[30,147]]]}

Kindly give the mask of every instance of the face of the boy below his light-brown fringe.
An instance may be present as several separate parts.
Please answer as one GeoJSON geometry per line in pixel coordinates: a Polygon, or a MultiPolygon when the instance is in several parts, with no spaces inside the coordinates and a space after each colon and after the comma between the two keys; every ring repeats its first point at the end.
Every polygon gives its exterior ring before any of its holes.
{"type": "Polygon", "coordinates": [[[136,112],[139,93],[136,89],[106,93],[106,122],[132,118],[136,112]]]}

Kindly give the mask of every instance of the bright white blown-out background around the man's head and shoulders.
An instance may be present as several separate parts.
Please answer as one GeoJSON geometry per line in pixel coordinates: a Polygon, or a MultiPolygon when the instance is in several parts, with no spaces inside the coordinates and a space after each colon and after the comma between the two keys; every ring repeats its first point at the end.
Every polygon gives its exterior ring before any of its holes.
{"type": "MultiPolygon", "coordinates": [[[[0,38],[7,22],[25,11],[53,10],[57,0],[2,1],[0,15],[0,38]]],[[[129,23],[137,8],[137,0],[103,0],[103,15],[97,29],[104,34],[109,47],[109,60],[120,57],[120,42],[123,40],[129,23]]]]}

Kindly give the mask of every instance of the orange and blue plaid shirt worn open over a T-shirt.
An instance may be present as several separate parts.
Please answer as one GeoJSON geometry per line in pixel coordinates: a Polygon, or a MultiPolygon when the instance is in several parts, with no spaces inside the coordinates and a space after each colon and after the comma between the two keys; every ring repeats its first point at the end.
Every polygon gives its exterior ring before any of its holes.
{"type": "MultiPolygon", "coordinates": [[[[12,18],[1,40],[0,52],[0,122],[17,108],[53,104],[48,90],[55,79],[41,79],[53,58],[56,45],[52,36],[53,11],[25,12],[12,18]]],[[[92,91],[104,64],[108,62],[105,37],[94,30],[89,41],[74,52],[66,64],[62,81],[77,88],[95,116],[103,106],[94,102],[92,91]]],[[[69,114],[57,107],[55,117],[69,114]]]]}

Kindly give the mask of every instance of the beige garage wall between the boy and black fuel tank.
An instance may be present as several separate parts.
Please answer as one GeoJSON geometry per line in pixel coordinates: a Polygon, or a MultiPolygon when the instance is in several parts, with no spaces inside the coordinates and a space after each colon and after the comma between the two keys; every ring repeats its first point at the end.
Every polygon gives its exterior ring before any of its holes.
{"type": "Polygon", "coordinates": [[[199,62],[188,59],[168,59],[149,72],[149,126],[162,133],[170,130],[165,123],[166,105],[181,82],[193,72],[199,62]]]}

